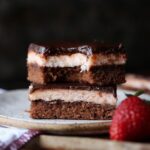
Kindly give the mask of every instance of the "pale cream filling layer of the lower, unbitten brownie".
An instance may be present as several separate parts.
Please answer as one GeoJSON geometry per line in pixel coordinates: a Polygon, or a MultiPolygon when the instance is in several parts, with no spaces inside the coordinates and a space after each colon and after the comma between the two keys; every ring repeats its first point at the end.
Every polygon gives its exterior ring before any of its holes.
{"type": "Polygon", "coordinates": [[[63,100],[65,102],[92,102],[96,104],[111,104],[116,105],[116,98],[111,93],[86,90],[68,90],[68,89],[45,89],[37,90],[29,94],[31,101],[44,100],[63,100]]]}

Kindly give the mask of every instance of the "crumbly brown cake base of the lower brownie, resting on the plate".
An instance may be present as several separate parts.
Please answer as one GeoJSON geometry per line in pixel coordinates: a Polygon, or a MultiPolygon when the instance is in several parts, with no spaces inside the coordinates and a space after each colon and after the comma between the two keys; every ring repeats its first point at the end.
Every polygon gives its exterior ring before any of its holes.
{"type": "Polygon", "coordinates": [[[115,106],[109,104],[37,100],[31,103],[30,116],[34,119],[106,120],[112,119],[114,110],[115,106]]]}

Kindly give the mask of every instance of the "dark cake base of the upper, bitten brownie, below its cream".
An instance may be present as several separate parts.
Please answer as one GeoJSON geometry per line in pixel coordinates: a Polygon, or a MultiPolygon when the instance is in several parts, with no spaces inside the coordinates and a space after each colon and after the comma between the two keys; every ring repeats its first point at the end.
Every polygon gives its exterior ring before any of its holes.
{"type": "Polygon", "coordinates": [[[90,85],[112,85],[125,82],[123,65],[91,67],[87,72],[80,72],[80,67],[50,68],[28,65],[28,80],[38,84],[51,82],[74,82],[90,85]]]}

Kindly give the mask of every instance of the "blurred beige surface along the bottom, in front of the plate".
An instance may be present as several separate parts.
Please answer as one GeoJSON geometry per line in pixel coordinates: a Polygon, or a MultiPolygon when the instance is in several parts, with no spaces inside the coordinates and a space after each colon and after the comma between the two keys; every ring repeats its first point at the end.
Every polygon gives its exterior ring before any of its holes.
{"type": "Polygon", "coordinates": [[[150,143],[117,142],[107,136],[73,137],[40,135],[22,150],[149,150],[150,143]]]}

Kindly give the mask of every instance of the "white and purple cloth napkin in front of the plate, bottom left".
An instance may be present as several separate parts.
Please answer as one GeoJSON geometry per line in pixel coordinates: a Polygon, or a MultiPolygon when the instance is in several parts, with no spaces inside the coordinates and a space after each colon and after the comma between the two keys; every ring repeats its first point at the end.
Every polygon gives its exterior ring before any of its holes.
{"type": "MultiPolygon", "coordinates": [[[[0,89],[0,94],[3,92],[0,89]]],[[[0,150],[19,150],[38,134],[38,131],[0,126],[0,150]]]]}

